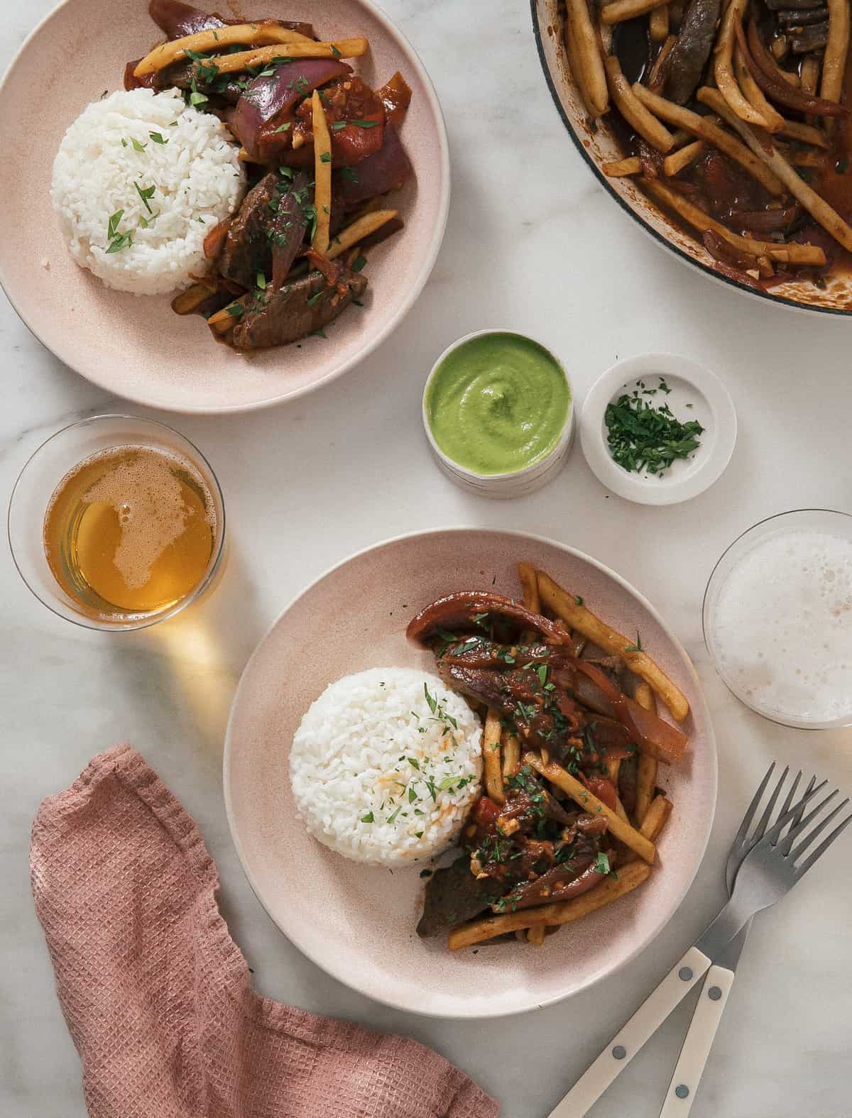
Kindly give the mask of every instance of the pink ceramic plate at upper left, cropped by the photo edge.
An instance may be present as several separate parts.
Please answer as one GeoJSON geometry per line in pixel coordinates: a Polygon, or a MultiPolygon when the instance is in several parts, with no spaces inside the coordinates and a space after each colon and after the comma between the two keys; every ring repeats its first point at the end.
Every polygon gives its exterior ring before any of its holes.
{"type": "MultiPolygon", "coordinates": [[[[216,0],[196,6],[212,10],[216,0]]],[[[174,314],[168,296],[108,291],[66,252],[50,208],[54,157],[84,106],[120,88],[125,61],[162,38],[148,0],[65,0],[27,39],[0,86],[0,283],[66,364],[112,392],[172,411],[261,408],[345,372],[411,307],[446,224],[441,107],[417,55],[384,12],[370,0],[245,0],[243,7],[248,18],[310,20],[329,38],[365,35],[370,53],[357,66],[365,80],[381,85],[399,69],[414,92],[401,136],[416,181],[392,196],[406,228],[369,254],[366,305],[347,310],[328,328],[328,340],[240,357],[217,344],[198,315],[174,314]]]]}

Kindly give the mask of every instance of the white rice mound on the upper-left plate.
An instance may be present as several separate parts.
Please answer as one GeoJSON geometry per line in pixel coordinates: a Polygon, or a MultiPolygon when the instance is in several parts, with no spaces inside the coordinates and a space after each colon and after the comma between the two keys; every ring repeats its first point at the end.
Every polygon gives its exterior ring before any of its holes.
{"type": "Polygon", "coordinates": [[[84,108],[59,144],[50,187],[77,264],[138,295],[178,291],[190,273],[206,272],[205,236],[234,212],[245,188],[229,139],[218,117],[187,105],[177,89],[119,91],[84,108]],[[140,190],[152,186],[145,206],[140,190]],[[115,231],[132,243],[108,253],[119,210],[115,231]]]}

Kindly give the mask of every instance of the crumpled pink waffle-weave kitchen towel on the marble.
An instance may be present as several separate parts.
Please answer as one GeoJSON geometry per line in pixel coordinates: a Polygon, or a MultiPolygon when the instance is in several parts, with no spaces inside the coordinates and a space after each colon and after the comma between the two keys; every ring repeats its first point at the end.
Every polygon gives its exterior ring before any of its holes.
{"type": "Polygon", "coordinates": [[[92,1118],[493,1118],[430,1049],[259,997],[195,822],[95,757],[32,826],[32,892],[92,1118]]]}

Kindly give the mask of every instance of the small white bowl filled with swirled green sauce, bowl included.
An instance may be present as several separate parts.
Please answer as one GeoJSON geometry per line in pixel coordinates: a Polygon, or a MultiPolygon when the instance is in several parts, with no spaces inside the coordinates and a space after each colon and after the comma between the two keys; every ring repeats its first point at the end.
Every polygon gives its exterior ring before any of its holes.
{"type": "Polygon", "coordinates": [[[460,338],[433,366],[423,425],[448,477],[480,496],[531,493],[565,463],[574,398],[546,347],[510,330],[460,338]]]}

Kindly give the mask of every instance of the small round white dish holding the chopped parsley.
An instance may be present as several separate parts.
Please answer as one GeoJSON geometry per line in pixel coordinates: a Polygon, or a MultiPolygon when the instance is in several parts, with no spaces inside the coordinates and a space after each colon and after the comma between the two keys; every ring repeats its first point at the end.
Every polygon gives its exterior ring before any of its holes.
{"type": "Polygon", "coordinates": [[[613,493],[638,504],[676,504],[698,496],[721,477],[737,442],[737,413],[728,389],[709,369],[675,353],[643,353],[618,361],[595,381],[583,402],[580,442],[593,473],[613,493]],[[671,392],[644,399],[655,406],[666,402],[681,423],[698,419],[704,428],[701,445],[691,457],[673,462],[662,476],[631,473],[609,453],[606,409],[619,396],[633,392],[637,380],[656,388],[661,377],[671,392]]]}

